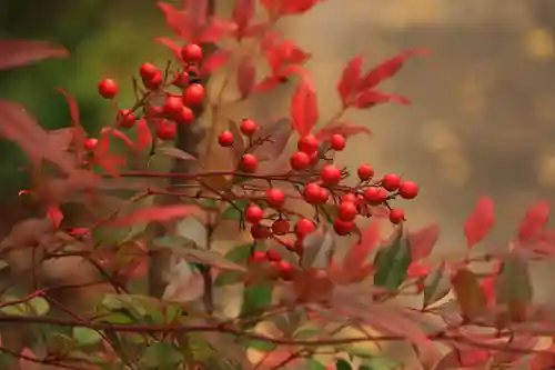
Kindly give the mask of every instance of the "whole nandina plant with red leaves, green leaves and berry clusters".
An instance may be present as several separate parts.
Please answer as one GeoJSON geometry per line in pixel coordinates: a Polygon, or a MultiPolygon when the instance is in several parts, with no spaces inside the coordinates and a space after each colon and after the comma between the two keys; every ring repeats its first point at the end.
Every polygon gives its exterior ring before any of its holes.
{"type": "MultiPolygon", "coordinates": [[[[505,251],[476,254],[472,248],[494,224],[493,202],[482,198],[464,227],[464,257],[433,262],[438,227],[403,228],[402,204],[417,197],[418,186],[394,172],[376,174],[369,163],[340,167],[333,156],[349,150],[350,137],[370,132],[344,121],[346,111],[408,103],[377,87],[426,51],[407,51],[366,71],[363,58],[353,58],[339,73],[339,112],[321,119],[302,67],[309,53],[274,28],[317,2],[261,0],[263,21],[254,19],[253,0],[236,0],[231,19],[210,13],[205,0],[160,2],[178,40],[157,41],[174,59],[138,67],[131,107],[118,103],[120,81],[102,79],[99,99],[115,111],[97,134],[82,129],[77,103],[61,89],[72,118],[62,130],[47,132],[17,103],[0,102],[2,136],[30,159],[34,187],[21,196],[46,204],[44,217],[17,224],[0,243],[12,277],[0,293],[3,368],[555,366],[552,308],[534,302],[528,272],[529,260],[554,252],[549,204],[528,210],[505,251]],[[234,47],[213,47],[224,39],[234,47]],[[256,48],[245,52],[245,41],[256,48]],[[270,76],[256,78],[259,59],[270,76]],[[208,77],[219,70],[225,82],[211,91],[208,77]],[[228,103],[222,91],[233,79],[240,101],[296,83],[290,112],[269,122],[220,117],[228,103]],[[208,149],[193,154],[195,140],[183,136],[199,134],[193,127],[204,116],[208,149]],[[218,147],[232,159],[229,170],[206,169],[218,147]],[[163,158],[175,161],[173,169],[163,158]],[[92,217],[69,228],[68,204],[92,217]],[[230,222],[236,239],[245,229],[251,237],[222,253],[212,242],[230,222]],[[395,228],[383,239],[385,222],[395,228]],[[335,253],[341,239],[354,240],[343,258],[335,253]],[[70,268],[59,271],[61,266],[70,268]],[[161,291],[152,283],[160,277],[161,291]],[[87,289],[95,286],[103,288],[91,294],[87,289]],[[233,314],[214,297],[228,286],[241,288],[233,314]],[[57,296],[68,290],[85,307],[57,296]],[[400,300],[406,297],[413,300],[400,300]],[[273,331],[260,330],[269,323],[273,331]],[[411,344],[420,363],[381,354],[387,342],[411,344]],[[248,357],[251,350],[258,356],[248,357]]],[[[0,49],[7,51],[2,69],[67,54],[43,42],[0,41],[0,49]]]]}

